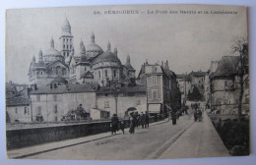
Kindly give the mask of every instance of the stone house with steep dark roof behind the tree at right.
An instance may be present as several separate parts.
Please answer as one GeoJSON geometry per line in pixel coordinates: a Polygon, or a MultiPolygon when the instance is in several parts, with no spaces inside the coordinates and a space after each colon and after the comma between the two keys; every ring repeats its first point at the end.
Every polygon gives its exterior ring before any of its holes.
{"type": "MultiPolygon", "coordinates": [[[[238,114],[238,99],[241,89],[239,83],[239,56],[224,56],[216,70],[210,76],[212,112],[220,114],[238,114]]],[[[244,92],[242,113],[249,113],[249,76],[243,77],[244,92]]]]}

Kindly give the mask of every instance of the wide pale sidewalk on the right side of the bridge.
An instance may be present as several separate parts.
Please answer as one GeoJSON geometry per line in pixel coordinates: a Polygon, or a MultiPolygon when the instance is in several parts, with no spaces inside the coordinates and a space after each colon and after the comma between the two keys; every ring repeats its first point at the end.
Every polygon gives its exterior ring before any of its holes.
{"type": "Polygon", "coordinates": [[[230,156],[215,130],[210,118],[204,113],[202,122],[194,123],[160,155],[160,159],[230,156]]]}

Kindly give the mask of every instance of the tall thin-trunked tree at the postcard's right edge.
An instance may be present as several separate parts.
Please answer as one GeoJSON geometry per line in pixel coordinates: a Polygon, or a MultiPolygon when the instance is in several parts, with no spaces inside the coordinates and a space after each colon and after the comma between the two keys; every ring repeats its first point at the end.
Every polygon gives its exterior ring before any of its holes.
{"type": "Polygon", "coordinates": [[[248,74],[249,63],[248,63],[248,39],[236,39],[235,44],[232,46],[233,53],[239,54],[239,65],[238,65],[238,77],[239,77],[239,99],[238,99],[238,120],[241,120],[242,117],[242,97],[243,97],[243,77],[248,74]]]}

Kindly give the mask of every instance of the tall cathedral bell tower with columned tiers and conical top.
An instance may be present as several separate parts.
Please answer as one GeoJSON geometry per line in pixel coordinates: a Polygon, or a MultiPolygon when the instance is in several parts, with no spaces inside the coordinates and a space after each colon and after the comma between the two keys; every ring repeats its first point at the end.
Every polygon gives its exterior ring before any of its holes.
{"type": "Polygon", "coordinates": [[[71,26],[67,18],[65,19],[64,24],[61,27],[61,36],[59,39],[62,45],[61,54],[66,59],[71,56],[71,52],[73,49],[73,35],[71,33],[71,26]]]}

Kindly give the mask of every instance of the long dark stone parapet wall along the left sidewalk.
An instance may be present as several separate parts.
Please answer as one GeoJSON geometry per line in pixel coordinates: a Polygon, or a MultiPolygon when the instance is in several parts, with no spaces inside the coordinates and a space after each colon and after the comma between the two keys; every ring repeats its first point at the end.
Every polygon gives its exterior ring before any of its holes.
{"type": "MultiPolygon", "coordinates": [[[[154,117],[151,117],[150,123],[153,122],[157,121],[154,117]]],[[[124,120],[124,124],[125,128],[129,127],[128,119],[124,120]]],[[[7,149],[17,149],[70,138],[82,138],[106,132],[110,132],[110,121],[7,130],[7,149]]]]}

